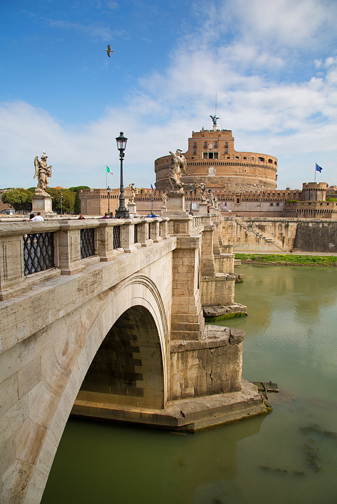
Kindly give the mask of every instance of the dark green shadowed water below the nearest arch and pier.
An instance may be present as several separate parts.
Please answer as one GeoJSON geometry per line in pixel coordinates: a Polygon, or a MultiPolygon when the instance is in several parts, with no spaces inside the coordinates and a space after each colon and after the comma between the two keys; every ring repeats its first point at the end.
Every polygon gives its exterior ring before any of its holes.
{"type": "Polygon", "coordinates": [[[220,502],[210,489],[223,493],[238,478],[238,443],[263,418],[184,435],[72,417],[41,504],[220,502]]]}

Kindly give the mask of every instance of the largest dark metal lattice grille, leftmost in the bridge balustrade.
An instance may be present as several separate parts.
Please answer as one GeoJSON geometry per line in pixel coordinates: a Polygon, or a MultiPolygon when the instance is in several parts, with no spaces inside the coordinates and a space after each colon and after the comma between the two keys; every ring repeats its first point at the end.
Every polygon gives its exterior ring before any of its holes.
{"type": "Polygon", "coordinates": [[[25,276],[54,267],[53,233],[25,234],[23,257],[25,276]]]}

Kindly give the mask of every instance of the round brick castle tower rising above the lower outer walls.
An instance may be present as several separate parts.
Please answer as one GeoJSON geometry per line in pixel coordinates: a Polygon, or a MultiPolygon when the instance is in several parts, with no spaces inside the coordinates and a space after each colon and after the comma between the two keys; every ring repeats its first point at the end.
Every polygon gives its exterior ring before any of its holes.
{"type": "MultiPolygon", "coordinates": [[[[276,188],[277,158],[256,152],[238,152],[234,149],[231,130],[202,129],[192,132],[188,139],[187,175],[182,182],[204,183],[206,187],[223,187],[228,191],[264,191],[276,188]]],[[[156,190],[170,191],[168,180],[171,156],[154,161],[156,190]]]]}

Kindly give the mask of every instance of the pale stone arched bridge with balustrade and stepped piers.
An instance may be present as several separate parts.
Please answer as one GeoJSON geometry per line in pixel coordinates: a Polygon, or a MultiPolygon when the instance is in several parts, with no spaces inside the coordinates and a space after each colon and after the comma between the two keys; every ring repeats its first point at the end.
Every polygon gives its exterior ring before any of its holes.
{"type": "Polygon", "coordinates": [[[1,504],[40,502],[70,413],[194,431],[265,413],[241,378],[222,218],[0,224],[1,504]]]}

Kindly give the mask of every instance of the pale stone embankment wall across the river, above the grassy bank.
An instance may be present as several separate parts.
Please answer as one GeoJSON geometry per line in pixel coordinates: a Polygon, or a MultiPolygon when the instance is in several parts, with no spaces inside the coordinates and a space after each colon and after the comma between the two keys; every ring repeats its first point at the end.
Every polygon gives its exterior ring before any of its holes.
{"type": "Polygon", "coordinates": [[[225,218],[222,238],[234,250],[282,252],[337,251],[337,220],[225,218]]]}

